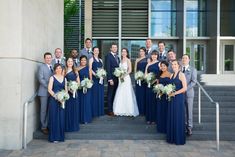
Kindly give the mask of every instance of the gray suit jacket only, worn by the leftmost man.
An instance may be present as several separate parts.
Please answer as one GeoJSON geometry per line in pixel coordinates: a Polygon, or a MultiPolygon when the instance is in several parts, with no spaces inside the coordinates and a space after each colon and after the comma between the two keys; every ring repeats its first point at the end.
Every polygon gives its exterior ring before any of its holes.
{"type": "Polygon", "coordinates": [[[38,96],[49,96],[48,83],[52,76],[52,71],[49,69],[47,64],[41,64],[38,70],[38,81],[40,83],[38,96]]]}

